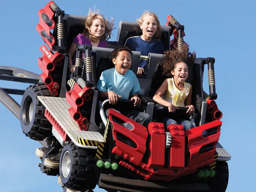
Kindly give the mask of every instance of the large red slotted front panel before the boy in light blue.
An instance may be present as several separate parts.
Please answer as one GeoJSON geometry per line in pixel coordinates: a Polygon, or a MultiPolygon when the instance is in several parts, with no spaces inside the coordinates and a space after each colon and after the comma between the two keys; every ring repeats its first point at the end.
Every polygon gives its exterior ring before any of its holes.
{"type": "Polygon", "coordinates": [[[109,109],[109,120],[113,124],[113,137],[116,141],[116,147],[112,149],[112,153],[123,157],[125,160],[131,162],[134,165],[139,165],[142,157],[146,151],[146,141],[148,138],[147,128],[133,121],[132,119],[118,113],[114,109],[109,109]],[[113,121],[112,116],[116,116],[124,122],[130,123],[133,126],[132,130],[129,130],[122,125],[113,121]],[[119,132],[125,135],[129,139],[133,140],[137,148],[132,148],[131,146],[117,140],[116,133],[119,132]]]}

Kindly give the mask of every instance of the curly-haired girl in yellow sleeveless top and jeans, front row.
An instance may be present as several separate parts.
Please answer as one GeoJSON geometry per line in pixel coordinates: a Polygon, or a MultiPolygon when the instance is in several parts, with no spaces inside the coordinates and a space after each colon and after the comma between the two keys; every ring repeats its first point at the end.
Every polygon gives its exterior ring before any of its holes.
{"type": "MultiPolygon", "coordinates": [[[[163,73],[170,73],[171,78],[164,80],[162,85],[156,91],[153,100],[160,105],[166,106],[169,112],[175,112],[178,107],[188,108],[187,113],[192,114],[195,111],[195,107],[191,104],[192,85],[186,83],[188,78],[188,66],[185,63],[187,61],[188,52],[184,51],[168,51],[165,53],[163,60],[163,73]]],[[[165,128],[169,124],[182,124],[184,130],[193,128],[193,125],[188,120],[180,120],[176,122],[170,118],[163,118],[161,120],[165,128]]]]}

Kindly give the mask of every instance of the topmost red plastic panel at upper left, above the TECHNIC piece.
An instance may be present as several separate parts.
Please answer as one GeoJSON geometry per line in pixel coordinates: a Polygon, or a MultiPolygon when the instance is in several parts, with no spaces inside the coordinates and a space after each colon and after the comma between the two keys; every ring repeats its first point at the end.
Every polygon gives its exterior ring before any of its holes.
{"type": "MultiPolygon", "coordinates": [[[[52,19],[54,16],[54,12],[50,8],[51,4],[54,3],[54,1],[50,1],[48,4],[45,5],[44,9],[40,9],[38,11],[39,24],[36,26],[37,32],[41,35],[44,42],[52,49],[52,45],[55,44],[54,37],[50,34],[50,29],[53,29],[55,26],[55,22],[52,19]],[[47,15],[47,16],[45,16],[47,15]],[[43,19],[43,17],[48,17],[47,20],[51,20],[52,25],[49,26],[43,19]]],[[[50,23],[50,22],[48,22],[50,23]]]]}

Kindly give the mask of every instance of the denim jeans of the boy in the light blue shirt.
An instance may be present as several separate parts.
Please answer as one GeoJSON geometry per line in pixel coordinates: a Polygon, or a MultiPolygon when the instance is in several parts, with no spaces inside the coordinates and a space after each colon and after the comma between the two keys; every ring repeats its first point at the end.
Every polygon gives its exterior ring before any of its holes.
{"type": "MultiPolygon", "coordinates": [[[[116,110],[116,109],[114,109],[114,110],[116,110]]],[[[106,110],[106,115],[108,116],[108,110],[106,110]]],[[[148,128],[148,124],[150,123],[149,122],[149,114],[147,114],[147,113],[143,113],[140,111],[128,111],[128,112],[124,112],[122,115],[129,117],[133,121],[135,121],[147,128],[148,128]]]]}

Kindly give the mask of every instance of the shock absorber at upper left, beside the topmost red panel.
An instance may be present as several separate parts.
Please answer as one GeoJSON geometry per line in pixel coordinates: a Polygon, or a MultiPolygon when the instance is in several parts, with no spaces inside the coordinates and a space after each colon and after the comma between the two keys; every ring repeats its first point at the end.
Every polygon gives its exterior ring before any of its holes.
{"type": "Polygon", "coordinates": [[[57,52],[64,53],[65,47],[64,47],[64,20],[63,17],[65,15],[64,11],[61,11],[58,5],[55,3],[52,3],[50,5],[53,12],[56,13],[57,19],[57,40],[58,40],[58,46],[57,46],[57,52]]]}

